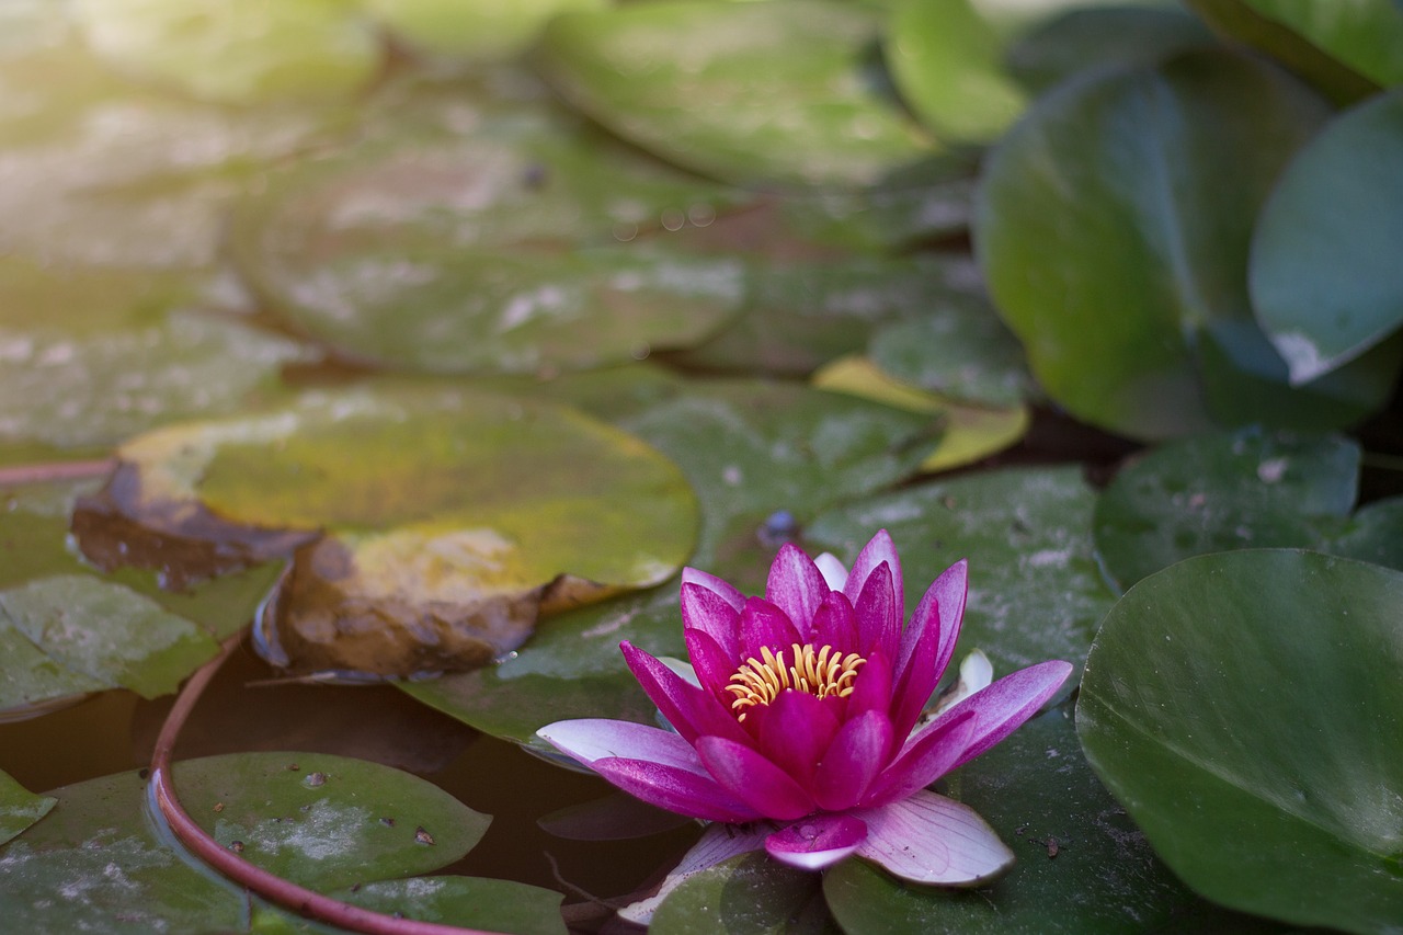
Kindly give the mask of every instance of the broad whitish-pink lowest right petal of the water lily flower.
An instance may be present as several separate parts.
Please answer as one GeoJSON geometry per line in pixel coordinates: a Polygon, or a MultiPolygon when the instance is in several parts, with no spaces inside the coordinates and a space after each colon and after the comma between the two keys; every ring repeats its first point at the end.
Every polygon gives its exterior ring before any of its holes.
{"type": "Polygon", "coordinates": [[[857,856],[913,883],[976,886],[1013,863],[1013,851],[974,809],[934,792],[853,816],[867,823],[857,856]]]}

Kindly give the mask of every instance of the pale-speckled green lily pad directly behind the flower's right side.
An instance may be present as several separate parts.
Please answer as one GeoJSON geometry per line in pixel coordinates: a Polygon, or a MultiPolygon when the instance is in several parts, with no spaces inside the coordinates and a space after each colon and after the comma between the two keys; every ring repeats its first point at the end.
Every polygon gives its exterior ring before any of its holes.
{"type": "Polygon", "coordinates": [[[1076,468],[989,470],[838,507],[804,541],[852,562],[887,529],[901,553],[908,609],[941,571],[968,559],[955,653],[978,647],[1002,675],[1085,657],[1114,599],[1092,550],[1094,503],[1076,468]]]}

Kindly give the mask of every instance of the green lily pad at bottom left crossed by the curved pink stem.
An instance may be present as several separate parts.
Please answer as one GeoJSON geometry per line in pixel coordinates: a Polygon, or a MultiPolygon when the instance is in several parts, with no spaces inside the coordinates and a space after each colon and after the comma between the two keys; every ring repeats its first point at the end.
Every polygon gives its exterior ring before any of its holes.
{"type": "MultiPolygon", "coordinates": [[[[220,841],[243,841],[247,859],[323,891],[452,863],[490,820],[410,774],[325,754],[192,760],[175,765],[174,781],[189,814],[220,841]]],[[[51,795],[58,804],[43,821],[0,849],[8,925],[246,931],[247,894],[173,849],[136,772],[51,795]]]]}

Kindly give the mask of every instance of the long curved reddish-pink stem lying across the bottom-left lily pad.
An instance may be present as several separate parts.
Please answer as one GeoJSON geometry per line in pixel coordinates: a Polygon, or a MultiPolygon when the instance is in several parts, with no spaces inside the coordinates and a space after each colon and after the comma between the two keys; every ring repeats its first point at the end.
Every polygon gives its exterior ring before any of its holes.
{"type": "Polygon", "coordinates": [[[181,806],[175,796],[175,783],[171,775],[171,752],[180,738],[181,727],[199,702],[210,679],[219,667],[233,654],[243,635],[227,639],[215,658],[205,663],[175,698],[175,706],[166,717],[161,733],[156,738],[156,750],[152,752],[152,789],[156,793],[156,803],[161,814],[170,824],[175,838],[189,848],[199,859],[210,865],[234,883],[257,893],[258,896],[292,910],[306,918],[318,922],[328,922],[352,932],[369,932],[372,935],[499,935],[498,932],[483,932],[474,928],[457,928],[456,925],[441,925],[438,922],[421,922],[411,918],[397,918],[373,913],[359,906],[351,906],[334,900],[330,896],[303,889],[296,883],[254,866],[233,851],[226,849],[219,841],[209,835],[189,813],[181,806]]]}

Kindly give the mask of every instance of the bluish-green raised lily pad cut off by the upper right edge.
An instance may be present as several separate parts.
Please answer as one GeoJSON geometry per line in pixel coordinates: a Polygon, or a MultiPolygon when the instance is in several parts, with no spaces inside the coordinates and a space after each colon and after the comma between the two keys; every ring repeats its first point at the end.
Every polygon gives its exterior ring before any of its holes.
{"type": "MultiPolygon", "coordinates": [[[[1330,122],[1263,208],[1251,243],[1251,302],[1295,383],[1403,327],[1403,178],[1392,171],[1400,163],[1403,91],[1395,91],[1330,122]]],[[[1392,351],[1403,359],[1397,343],[1392,351]]]]}

